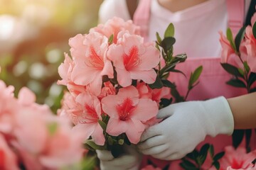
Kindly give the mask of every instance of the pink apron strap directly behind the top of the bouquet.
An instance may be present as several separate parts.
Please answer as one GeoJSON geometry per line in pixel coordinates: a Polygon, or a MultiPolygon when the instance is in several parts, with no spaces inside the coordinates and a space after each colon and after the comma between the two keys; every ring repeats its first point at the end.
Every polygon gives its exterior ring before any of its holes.
{"type": "Polygon", "coordinates": [[[140,0],[133,16],[134,24],[140,27],[140,33],[145,41],[149,35],[150,6],[151,0],[140,0]]]}

